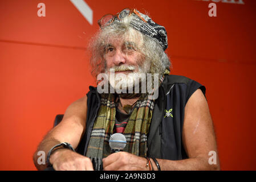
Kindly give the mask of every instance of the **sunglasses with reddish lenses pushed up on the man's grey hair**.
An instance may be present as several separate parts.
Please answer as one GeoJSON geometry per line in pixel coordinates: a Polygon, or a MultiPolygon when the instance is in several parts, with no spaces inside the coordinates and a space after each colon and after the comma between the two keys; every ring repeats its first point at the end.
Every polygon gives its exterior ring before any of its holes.
{"type": "Polygon", "coordinates": [[[100,28],[103,28],[105,26],[108,26],[109,24],[111,24],[115,18],[117,19],[123,19],[126,16],[131,15],[132,13],[136,14],[137,16],[139,16],[139,18],[141,20],[143,20],[143,22],[147,22],[136,9],[129,9],[129,8],[125,8],[123,9],[120,13],[117,13],[116,15],[112,15],[112,14],[106,14],[104,16],[102,16],[101,19],[98,20],[98,24],[100,26],[100,28]]]}

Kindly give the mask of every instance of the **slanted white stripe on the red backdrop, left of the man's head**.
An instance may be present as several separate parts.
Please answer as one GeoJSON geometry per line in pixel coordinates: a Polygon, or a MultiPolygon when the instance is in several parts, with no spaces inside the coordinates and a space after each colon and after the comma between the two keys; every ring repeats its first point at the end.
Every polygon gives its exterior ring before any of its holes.
{"type": "Polygon", "coordinates": [[[80,13],[92,24],[92,9],[83,0],[70,0],[80,13]]]}

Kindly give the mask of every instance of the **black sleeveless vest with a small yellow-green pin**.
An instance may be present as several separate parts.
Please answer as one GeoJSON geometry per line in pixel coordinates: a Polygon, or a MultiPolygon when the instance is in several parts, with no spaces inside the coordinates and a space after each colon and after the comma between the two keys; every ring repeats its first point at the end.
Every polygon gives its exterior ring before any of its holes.
{"type": "MultiPolygon", "coordinates": [[[[148,134],[148,156],[158,159],[181,160],[188,158],[182,145],[182,126],[186,102],[197,90],[205,94],[205,86],[190,78],[177,75],[165,76],[155,101],[148,134]]],[[[92,127],[100,107],[97,89],[90,86],[87,93],[86,132],[78,146],[79,154],[86,155],[92,127]]]]}

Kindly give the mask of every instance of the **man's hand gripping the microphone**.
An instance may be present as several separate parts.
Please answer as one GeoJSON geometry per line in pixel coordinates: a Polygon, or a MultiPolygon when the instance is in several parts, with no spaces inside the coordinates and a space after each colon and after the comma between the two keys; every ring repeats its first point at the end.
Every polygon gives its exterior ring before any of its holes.
{"type": "Polygon", "coordinates": [[[128,152],[117,152],[103,159],[105,171],[141,171],[148,170],[147,159],[129,154],[128,152]]]}

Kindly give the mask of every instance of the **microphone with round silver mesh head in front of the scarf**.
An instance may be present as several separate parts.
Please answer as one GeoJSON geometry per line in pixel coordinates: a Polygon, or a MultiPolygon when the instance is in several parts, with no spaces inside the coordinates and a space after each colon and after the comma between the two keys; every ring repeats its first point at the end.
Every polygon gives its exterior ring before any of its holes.
{"type": "Polygon", "coordinates": [[[121,133],[115,133],[109,138],[109,146],[111,148],[111,154],[119,151],[123,151],[126,146],[126,138],[121,133]]]}

